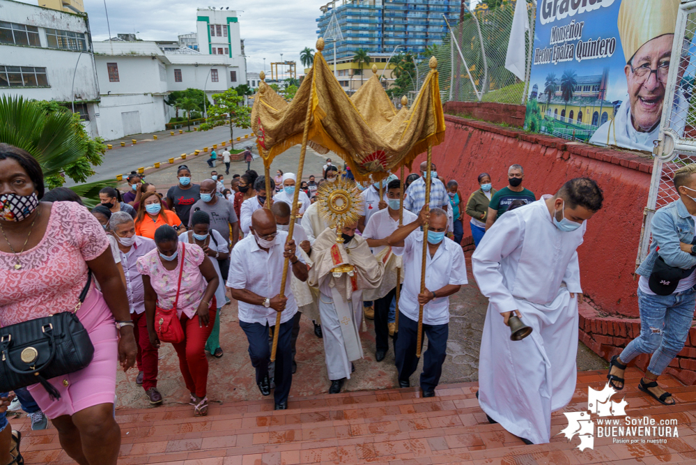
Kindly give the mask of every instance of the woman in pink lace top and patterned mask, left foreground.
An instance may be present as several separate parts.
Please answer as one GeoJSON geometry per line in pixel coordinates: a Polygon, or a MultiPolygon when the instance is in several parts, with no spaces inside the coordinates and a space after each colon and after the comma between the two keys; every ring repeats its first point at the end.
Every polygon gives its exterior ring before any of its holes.
{"type": "Polygon", "coordinates": [[[94,345],[92,362],[49,379],[60,399],[40,384],[29,391],[75,462],[115,465],[116,366],[132,367],[137,351],[125,287],[99,222],[75,202],[39,201],[43,192],[38,162],[0,144],[0,326],[74,310],[91,270],[103,294],[93,281],[77,317],[94,345]]]}

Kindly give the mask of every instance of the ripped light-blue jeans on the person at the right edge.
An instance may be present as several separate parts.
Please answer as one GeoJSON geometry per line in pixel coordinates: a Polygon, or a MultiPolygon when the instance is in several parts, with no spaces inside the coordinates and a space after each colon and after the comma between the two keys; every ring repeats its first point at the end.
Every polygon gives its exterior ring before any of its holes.
{"type": "Polygon", "coordinates": [[[638,289],[640,336],[619,358],[628,363],[641,353],[652,353],[648,371],[660,375],[684,347],[696,305],[693,288],[670,296],[651,296],[638,289]]]}

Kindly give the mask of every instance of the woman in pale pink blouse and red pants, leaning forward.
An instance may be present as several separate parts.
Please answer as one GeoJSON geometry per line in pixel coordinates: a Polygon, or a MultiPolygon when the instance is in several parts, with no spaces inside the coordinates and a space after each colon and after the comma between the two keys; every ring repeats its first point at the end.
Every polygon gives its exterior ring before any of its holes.
{"type": "Polygon", "coordinates": [[[180,243],[176,230],[168,224],[155,231],[155,244],[157,248],[140,257],[137,265],[145,286],[145,312],[150,343],[155,349],[160,348],[160,339],[155,333],[155,305],[171,309],[176,302],[185,338],[172,345],[179,357],[179,369],[186,388],[191,392],[194,415],[206,416],[208,359],[205,348],[215,323],[215,290],[219,277],[203,249],[196,244],[180,243]],[[183,263],[180,259],[182,255],[183,263]],[[179,287],[180,266],[183,266],[183,273],[179,287]]]}

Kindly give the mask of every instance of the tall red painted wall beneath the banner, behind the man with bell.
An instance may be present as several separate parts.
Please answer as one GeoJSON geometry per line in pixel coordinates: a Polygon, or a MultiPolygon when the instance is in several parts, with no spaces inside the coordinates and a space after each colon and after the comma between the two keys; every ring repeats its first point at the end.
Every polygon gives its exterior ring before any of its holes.
{"type": "MultiPolygon", "coordinates": [[[[490,174],[493,187],[507,185],[507,169],[525,169],[523,185],[536,197],[554,194],[571,178],[593,178],[604,191],[604,206],[587,224],[578,249],[582,289],[594,306],[609,314],[637,317],[633,279],[643,208],[647,204],[652,161],[635,152],[614,151],[555,137],[501,128],[446,115],[445,140],[433,148],[438,174],[459,183],[468,195],[477,176],[490,174]]],[[[415,170],[425,160],[421,155],[415,170]]],[[[470,234],[465,215],[465,236],[470,234]]]]}

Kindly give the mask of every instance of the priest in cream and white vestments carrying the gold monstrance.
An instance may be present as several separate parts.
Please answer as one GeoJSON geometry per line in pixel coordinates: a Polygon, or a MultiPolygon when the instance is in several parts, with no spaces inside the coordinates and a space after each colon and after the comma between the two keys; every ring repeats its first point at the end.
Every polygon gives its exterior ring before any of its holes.
{"type": "Polygon", "coordinates": [[[343,243],[334,228],[319,234],[311,248],[314,266],[309,270],[310,286],[319,287],[326,369],[330,394],[341,392],[350,379],[353,360],[363,357],[359,328],[362,322],[362,291],[380,285],[384,264],[370,252],[364,238],[355,235],[357,222],[341,230],[343,243]]]}

